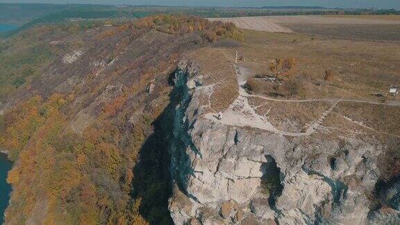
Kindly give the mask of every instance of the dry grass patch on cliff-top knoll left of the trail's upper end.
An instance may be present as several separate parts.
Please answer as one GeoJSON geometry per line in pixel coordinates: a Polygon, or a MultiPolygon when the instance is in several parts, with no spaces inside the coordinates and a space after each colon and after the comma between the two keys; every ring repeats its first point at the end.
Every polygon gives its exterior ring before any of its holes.
{"type": "Polygon", "coordinates": [[[238,94],[238,81],[232,65],[232,58],[227,58],[224,49],[203,48],[191,53],[204,76],[204,85],[215,84],[210,97],[211,108],[223,111],[238,94]]]}

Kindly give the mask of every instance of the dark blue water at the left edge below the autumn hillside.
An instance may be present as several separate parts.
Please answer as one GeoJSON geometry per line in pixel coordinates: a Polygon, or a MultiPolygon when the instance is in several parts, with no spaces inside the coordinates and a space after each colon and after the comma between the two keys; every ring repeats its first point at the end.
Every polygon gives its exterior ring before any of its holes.
{"type": "Polygon", "coordinates": [[[11,167],[12,163],[7,159],[7,155],[0,153],[0,224],[4,222],[4,210],[10,200],[11,186],[6,182],[6,178],[11,167]]]}

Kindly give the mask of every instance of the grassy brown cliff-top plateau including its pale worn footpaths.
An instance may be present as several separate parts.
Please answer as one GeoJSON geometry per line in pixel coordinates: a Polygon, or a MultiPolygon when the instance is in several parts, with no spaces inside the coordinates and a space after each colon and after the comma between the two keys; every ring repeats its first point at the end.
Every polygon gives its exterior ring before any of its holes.
{"type": "Polygon", "coordinates": [[[399,82],[400,44],[301,33],[244,31],[244,36],[241,47],[219,49],[225,57],[212,57],[233,63],[238,49],[244,60],[235,65],[238,97],[222,108],[220,117],[215,111],[206,114],[207,119],[290,137],[323,134],[329,139],[333,133],[364,138],[376,135],[383,141],[400,137],[400,101],[387,96],[390,85],[399,82]],[[281,75],[277,82],[262,78],[260,74],[272,75],[268,65],[275,58],[294,59],[294,74],[281,75]],[[324,81],[327,69],[334,75],[324,81]],[[258,83],[250,85],[251,80],[258,83]],[[295,84],[294,94],[271,94],[288,83],[295,84]],[[251,88],[245,90],[249,85],[251,88]],[[385,97],[376,97],[376,92],[385,97]]]}

